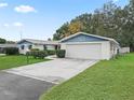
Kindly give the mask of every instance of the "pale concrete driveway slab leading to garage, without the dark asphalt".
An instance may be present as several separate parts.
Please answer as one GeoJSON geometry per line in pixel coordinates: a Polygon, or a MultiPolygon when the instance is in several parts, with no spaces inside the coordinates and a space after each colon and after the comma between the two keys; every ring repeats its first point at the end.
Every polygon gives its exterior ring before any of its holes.
{"type": "Polygon", "coordinates": [[[5,70],[5,72],[58,84],[79,74],[96,62],[97,60],[54,59],[5,70]]]}

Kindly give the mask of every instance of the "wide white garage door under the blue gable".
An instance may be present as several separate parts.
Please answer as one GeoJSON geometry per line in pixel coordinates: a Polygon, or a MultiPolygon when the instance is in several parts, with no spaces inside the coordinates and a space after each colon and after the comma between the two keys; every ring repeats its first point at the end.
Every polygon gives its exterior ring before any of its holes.
{"type": "Polygon", "coordinates": [[[100,59],[102,45],[98,44],[67,44],[66,57],[79,59],[100,59]]]}

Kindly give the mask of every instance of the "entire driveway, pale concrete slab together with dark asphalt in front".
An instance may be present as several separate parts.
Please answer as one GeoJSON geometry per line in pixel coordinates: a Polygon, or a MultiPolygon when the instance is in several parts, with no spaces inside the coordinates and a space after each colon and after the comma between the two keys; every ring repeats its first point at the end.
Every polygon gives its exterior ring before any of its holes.
{"type": "Polygon", "coordinates": [[[55,84],[77,75],[96,62],[54,59],[0,71],[0,100],[38,100],[55,84]]]}

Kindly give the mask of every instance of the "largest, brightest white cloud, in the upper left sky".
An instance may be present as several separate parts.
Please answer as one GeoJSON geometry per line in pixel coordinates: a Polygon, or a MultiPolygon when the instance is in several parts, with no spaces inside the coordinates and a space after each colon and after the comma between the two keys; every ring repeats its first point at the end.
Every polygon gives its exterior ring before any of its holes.
{"type": "Polygon", "coordinates": [[[34,6],[30,5],[19,5],[15,6],[14,10],[18,13],[30,13],[30,12],[37,12],[34,6]]]}

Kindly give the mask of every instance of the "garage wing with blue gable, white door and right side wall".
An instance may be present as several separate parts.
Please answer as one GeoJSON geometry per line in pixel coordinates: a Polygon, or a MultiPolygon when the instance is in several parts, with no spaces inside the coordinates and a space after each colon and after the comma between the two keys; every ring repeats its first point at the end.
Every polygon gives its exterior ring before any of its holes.
{"type": "Polygon", "coordinates": [[[110,59],[120,48],[113,39],[84,32],[64,38],[59,42],[61,48],[66,49],[66,57],[77,59],[110,59]]]}

